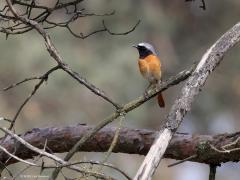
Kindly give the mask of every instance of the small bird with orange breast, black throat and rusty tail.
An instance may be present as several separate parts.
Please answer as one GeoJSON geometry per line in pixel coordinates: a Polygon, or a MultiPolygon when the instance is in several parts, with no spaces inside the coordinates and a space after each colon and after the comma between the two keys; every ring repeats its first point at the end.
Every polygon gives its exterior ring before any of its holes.
{"type": "MultiPolygon", "coordinates": [[[[137,48],[139,53],[138,67],[142,76],[148,80],[150,83],[148,88],[153,85],[158,85],[161,82],[162,71],[161,71],[161,61],[158,57],[154,47],[146,42],[141,42],[137,45],[133,45],[137,48]]],[[[146,91],[148,90],[146,89],[146,91]]],[[[158,105],[163,108],[165,107],[165,102],[162,93],[158,93],[157,96],[158,105]]]]}

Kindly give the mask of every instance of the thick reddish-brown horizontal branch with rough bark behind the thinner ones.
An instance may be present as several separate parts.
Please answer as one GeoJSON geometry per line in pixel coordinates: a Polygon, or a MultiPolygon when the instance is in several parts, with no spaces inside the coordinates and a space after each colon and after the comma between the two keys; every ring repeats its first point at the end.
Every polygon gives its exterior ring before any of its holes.
{"type": "MultiPolygon", "coordinates": [[[[21,137],[33,146],[42,149],[47,139],[48,151],[53,153],[68,152],[72,146],[86,133],[91,131],[92,127],[86,125],[69,126],[69,127],[52,127],[52,128],[35,128],[22,134],[21,137]]],[[[106,127],[101,129],[97,134],[79,151],[86,152],[106,152],[111,144],[116,128],[106,127]]],[[[140,154],[146,155],[151,144],[153,143],[157,132],[146,129],[129,129],[122,128],[119,134],[119,140],[113,150],[115,153],[140,154]]],[[[232,144],[240,138],[240,133],[210,135],[186,135],[177,133],[174,135],[164,157],[176,160],[182,160],[192,155],[197,155],[191,159],[194,162],[206,164],[220,164],[229,161],[239,161],[240,153],[238,151],[229,151],[223,153],[211,148],[210,145],[221,149],[222,147],[232,144]]],[[[26,146],[16,142],[14,138],[8,137],[4,142],[0,142],[2,147],[9,152],[18,149],[15,155],[21,159],[31,159],[37,156],[26,146]]],[[[231,148],[240,147],[240,143],[234,143],[231,148]]],[[[5,163],[9,157],[1,152],[0,161],[5,163]]],[[[16,163],[16,159],[9,160],[6,165],[16,163]]]]}

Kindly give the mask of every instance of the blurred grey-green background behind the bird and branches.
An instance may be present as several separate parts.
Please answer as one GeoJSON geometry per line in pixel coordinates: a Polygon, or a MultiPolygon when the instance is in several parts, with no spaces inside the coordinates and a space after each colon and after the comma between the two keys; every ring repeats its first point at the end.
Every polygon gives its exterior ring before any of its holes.
{"type": "MultiPolygon", "coordinates": [[[[148,85],[138,71],[138,53],[131,47],[133,44],[144,41],[156,47],[163,64],[163,79],[167,79],[199,61],[204,52],[239,21],[239,0],[205,1],[206,11],[199,8],[200,0],[86,0],[80,7],[88,12],[106,13],[115,10],[116,14],[110,17],[80,18],[71,25],[75,32],[87,34],[99,29],[102,19],[105,19],[107,27],[113,32],[128,31],[139,19],[141,23],[126,36],[111,36],[103,32],[81,40],[64,28],[49,30],[48,33],[70,67],[103,89],[115,101],[127,103],[141,95],[148,85]]],[[[64,17],[59,12],[55,18],[64,17]]],[[[5,35],[0,34],[1,89],[26,77],[41,75],[55,65],[36,32],[5,39],[5,35]]],[[[224,61],[210,76],[179,132],[216,134],[239,131],[239,58],[238,45],[224,57],[224,61]]],[[[29,82],[1,92],[0,116],[13,118],[35,83],[29,82]]],[[[183,84],[163,92],[166,108],[159,109],[156,99],[153,99],[128,113],[124,126],[158,130],[183,84]]],[[[23,133],[36,127],[78,123],[94,125],[113,110],[111,105],[79,85],[69,75],[57,71],[25,106],[15,129],[17,133],[23,133]]],[[[78,153],[75,158],[102,160],[104,154],[78,153]]],[[[143,159],[139,155],[112,154],[109,162],[133,177],[143,159]]],[[[168,168],[167,165],[173,162],[168,159],[162,161],[154,179],[208,179],[208,165],[186,162],[168,168]]],[[[16,164],[10,166],[10,169],[18,172],[22,167],[22,164],[16,164]]],[[[44,171],[44,174],[49,172],[44,171]]],[[[32,168],[25,172],[29,173],[39,174],[39,169],[32,168]]],[[[70,174],[68,171],[65,173],[70,174]]],[[[240,166],[237,163],[225,163],[217,168],[217,180],[237,180],[239,176],[240,166]]]]}

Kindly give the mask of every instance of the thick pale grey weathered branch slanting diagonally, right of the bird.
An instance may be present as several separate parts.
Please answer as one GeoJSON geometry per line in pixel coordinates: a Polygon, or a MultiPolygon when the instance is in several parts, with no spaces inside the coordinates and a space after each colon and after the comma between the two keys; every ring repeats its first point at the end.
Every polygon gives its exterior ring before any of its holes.
{"type": "Polygon", "coordinates": [[[174,102],[167,118],[165,127],[161,128],[156,141],[149,150],[134,180],[150,180],[158,167],[169,143],[181,124],[184,116],[191,109],[195,96],[199,94],[210,73],[217,67],[228,50],[240,41],[240,23],[227,31],[203,55],[196,70],[189,77],[181,94],[174,102]]]}

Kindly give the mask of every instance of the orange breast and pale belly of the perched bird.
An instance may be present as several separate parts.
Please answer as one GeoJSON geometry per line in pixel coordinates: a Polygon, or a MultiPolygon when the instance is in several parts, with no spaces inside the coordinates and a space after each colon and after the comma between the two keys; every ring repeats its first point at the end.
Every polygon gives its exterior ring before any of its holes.
{"type": "Polygon", "coordinates": [[[143,77],[149,82],[156,83],[161,79],[161,63],[157,56],[149,55],[139,59],[138,66],[143,77]]]}

